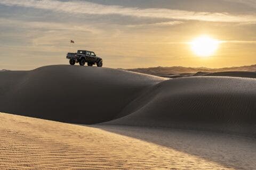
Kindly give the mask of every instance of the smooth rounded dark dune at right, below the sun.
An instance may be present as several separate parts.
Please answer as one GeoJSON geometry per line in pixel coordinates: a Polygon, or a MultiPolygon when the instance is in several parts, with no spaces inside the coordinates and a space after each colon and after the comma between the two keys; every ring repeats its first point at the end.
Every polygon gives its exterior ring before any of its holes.
{"type": "Polygon", "coordinates": [[[256,80],[247,78],[192,77],[166,80],[130,103],[118,115],[121,118],[107,124],[256,136],[255,88],[256,80]]]}

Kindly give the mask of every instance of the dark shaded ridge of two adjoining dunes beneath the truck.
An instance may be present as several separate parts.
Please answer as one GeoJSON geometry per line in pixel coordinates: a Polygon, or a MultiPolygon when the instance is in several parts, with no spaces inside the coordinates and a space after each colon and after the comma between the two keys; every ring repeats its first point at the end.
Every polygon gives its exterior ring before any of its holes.
{"type": "Polygon", "coordinates": [[[0,111],[77,124],[123,124],[255,136],[256,80],[164,79],[53,65],[0,74],[0,111]]]}

